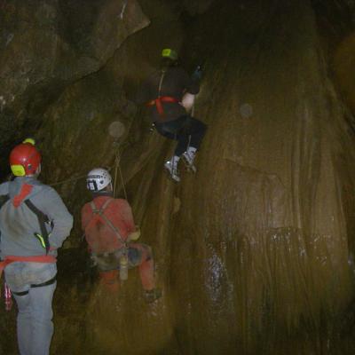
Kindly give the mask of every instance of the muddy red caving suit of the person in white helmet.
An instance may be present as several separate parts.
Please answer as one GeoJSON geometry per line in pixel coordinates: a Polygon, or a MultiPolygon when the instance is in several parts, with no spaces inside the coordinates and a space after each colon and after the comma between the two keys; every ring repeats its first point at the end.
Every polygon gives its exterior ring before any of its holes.
{"type": "MultiPolygon", "coordinates": [[[[119,259],[124,245],[114,230],[107,225],[105,218],[95,214],[96,209],[118,229],[122,240],[126,241],[130,233],[136,231],[130,205],[122,199],[114,199],[109,193],[100,193],[93,201],[86,203],[82,209],[82,227],[91,254],[98,263],[100,282],[106,288],[115,291],[119,287],[119,259]]],[[[139,267],[139,275],[145,290],[154,288],[154,261],[149,246],[143,243],[128,243],[128,265],[139,267]]]]}

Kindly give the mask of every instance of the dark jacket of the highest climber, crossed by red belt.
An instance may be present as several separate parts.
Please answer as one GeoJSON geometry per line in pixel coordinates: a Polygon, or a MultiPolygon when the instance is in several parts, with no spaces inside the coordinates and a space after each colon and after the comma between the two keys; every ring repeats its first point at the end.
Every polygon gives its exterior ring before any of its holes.
{"type": "MultiPolygon", "coordinates": [[[[138,104],[146,104],[147,102],[157,99],[159,96],[159,83],[162,78],[162,70],[155,71],[150,75],[146,82],[142,84],[138,91],[138,104]]],[[[169,96],[181,101],[185,92],[197,94],[200,86],[186,73],[182,67],[169,67],[162,78],[162,88],[160,96],[169,96]]],[[[178,117],[186,114],[184,106],[179,103],[162,103],[164,116],[158,114],[155,106],[149,106],[152,122],[168,122],[176,120],[178,117]]]]}

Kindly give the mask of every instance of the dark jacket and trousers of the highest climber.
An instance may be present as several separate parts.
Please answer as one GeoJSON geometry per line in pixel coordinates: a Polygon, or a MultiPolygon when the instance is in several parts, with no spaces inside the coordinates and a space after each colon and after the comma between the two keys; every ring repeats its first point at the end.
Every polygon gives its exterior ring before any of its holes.
{"type": "Polygon", "coordinates": [[[197,94],[200,86],[182,67],[164,70],[148,76],[138,91],[137,102],[148,106],[151,120],[162,136],[177,140],[175,155],[180,156],[189,143],[198,149],[206,131],[206,125],[188,115],[181,105],[185,92],[197,94]]]}

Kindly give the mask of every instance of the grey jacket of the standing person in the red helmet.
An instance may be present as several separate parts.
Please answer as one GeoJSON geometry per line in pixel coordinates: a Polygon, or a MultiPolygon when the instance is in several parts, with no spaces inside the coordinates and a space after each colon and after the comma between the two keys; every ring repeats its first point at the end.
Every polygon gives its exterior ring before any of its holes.
{"type": "MultiPolygon", "coordinates": [[[[0,185],[0,196],[9,194],[10,199],[0,209],[0,256],[41,256],[46,251],[34,233],[41,233],[36,214],[28,209],[25,203],[18,208],[13,206],[13,198],[20,193],[23,184],[33,185],[29,199],[37,209],[40,209],[51,220],[46,225],[51,232],[51,248],[61,247],[73,227],[73,217],[50,186],[43,185],[35,177],[16,177],[14,181],[0,185]]],[[[26,200],[25,199],[25,200],[26,200]]],[[[51,255],[56,255],[51,251],[51,255]]]]}

